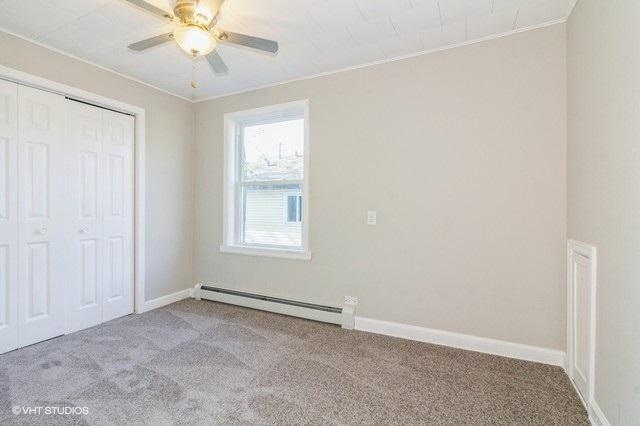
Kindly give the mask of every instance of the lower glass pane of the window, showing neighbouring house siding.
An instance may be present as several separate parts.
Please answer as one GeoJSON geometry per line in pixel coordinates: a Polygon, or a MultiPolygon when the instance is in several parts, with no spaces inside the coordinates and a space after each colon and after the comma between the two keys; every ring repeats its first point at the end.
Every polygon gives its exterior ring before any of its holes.
{"type": "Polygon", "coordinates": [[[301,185],[246,185],[243,188],[244,244],[302,246],[302,222],[296,198],[301,199],[301,185]],[[289,197],[289,195],[293,195],[289,197]],[[289,199],[293,199],[293,221],[289,199]]]}

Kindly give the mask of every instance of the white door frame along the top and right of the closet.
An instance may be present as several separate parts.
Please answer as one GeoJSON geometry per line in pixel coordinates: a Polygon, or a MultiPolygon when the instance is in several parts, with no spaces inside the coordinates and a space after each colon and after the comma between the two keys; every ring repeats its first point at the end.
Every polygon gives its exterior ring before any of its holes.
{"type": "Polygon", "coordinates": [[[144,312],[145,286],[145,109],[0,65],[0,79],[86,101],[135,117],[134,309],[144,312]]]}

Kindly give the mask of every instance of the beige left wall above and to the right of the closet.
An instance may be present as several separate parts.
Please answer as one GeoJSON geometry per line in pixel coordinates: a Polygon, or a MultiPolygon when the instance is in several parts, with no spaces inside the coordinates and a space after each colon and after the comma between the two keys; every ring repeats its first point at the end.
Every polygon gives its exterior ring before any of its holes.
{"type": "Polygon", "coordinates": [[[193,104],[3,32],[0,65],[146,109],[146,300],[190,287],[193,104]]]}

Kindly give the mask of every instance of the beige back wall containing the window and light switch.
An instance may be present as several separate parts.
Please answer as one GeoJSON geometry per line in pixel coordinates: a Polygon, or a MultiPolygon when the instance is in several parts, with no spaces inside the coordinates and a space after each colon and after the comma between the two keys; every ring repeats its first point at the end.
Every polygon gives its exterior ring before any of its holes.
{"type": "Polygon", "coordinates": [[[197,104],[194,278],[564,349],[565,83],[555,25],[197,104]],[[300,99],[313,260],[221,254],[223,114],[300,99]]]}

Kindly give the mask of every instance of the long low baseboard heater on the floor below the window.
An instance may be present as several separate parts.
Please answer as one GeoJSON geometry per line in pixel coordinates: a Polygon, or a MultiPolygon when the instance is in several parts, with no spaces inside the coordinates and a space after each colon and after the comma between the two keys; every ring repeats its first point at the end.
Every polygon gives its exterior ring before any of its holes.
{"type": "Polygon", "coordinates": [[[314,321],[328,322],[340,325],[342,328],[353,329],[354,326],[354,309],[351,306],[336,308],[202,284],[196,284],[193,296],[198,300],[212,300],[314,321]]]}

